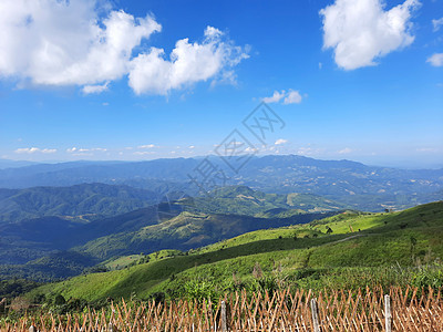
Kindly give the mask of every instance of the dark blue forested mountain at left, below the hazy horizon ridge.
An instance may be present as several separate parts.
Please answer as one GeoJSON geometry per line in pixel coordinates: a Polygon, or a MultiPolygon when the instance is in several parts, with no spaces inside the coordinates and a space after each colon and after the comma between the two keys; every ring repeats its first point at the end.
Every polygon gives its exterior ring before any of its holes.
{"type": "Polygon", "coordinates": [[[86,221],[128,212],[158,200],[151,190],[105,184],[0,189],[0,224],[43,216],[78,217],[86,221]]]}

